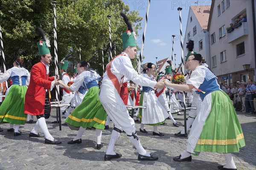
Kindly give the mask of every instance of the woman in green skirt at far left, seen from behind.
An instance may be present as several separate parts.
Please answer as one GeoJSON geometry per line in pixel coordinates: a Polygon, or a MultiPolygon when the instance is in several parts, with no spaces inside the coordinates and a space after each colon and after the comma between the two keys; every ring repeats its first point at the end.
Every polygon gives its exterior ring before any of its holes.
{"type": "Polygon", "coordinates": [[[14,131],[14,136],[19,136],[20,125],[25,125],[27,115],[24,114],[24,101],[30,74],[23,68],[24,59],[17,57],[13,60],[13,66],[1,76],[0,83],[12,79],[12,86],[9,93],[0,106],[0,122],[10,123],[9,132],[14,131]],[[15,125],[15,129],[13,129],[15,125]]]}

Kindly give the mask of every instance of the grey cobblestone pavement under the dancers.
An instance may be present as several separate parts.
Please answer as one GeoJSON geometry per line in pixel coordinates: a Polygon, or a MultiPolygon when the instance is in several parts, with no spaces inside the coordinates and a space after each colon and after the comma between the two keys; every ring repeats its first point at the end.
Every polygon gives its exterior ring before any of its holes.
{"type": "MultiPolygon", "coordinates": [[[[55,109],[54,109],[55,110],[55,109]]],[[[55,112],[52,111],[52,115],[55,112]]],[[[237,112],[243,129],[246,146],[239,153],[233,153],[233,159],[239,170],[256,169],[256,115],[237,112]]],[[[59,131],[57,124],[52,124],[56,118],[47,119],[49,132],[53,137],[62,142],[59,145],[44,144],[44,138],[29,138],[29,132],[35,125],[26,123],[20,127],[22,134],[15,137],[13,132],[7,132],[9,124],[1,124],[3,132],[0,132],[0,169],[27,169],[27,170],[70,170],[70,169],[128,169],[128,170],[217,170],[218,165],[225,163],[221,153],[201,153],[200,156],[192,156],[191,162],[175,162],[173,157],[186,149],[186,138],[178,138],[174,133],[182,130],[183,116],[175,116],[180,127],[174,127],[171,120],[166,120],[167,125],[160,125],[158,130],[165,136],[153,136],[153,127],[145,125],[148,133],[139,131],[140,123],[136,122],[136,128],[140,141],[145,149],[155,156],[157,161],[138,161],[138,153],[128,141],[125,133],[121,133],[117,141],[115,151],[123,156],[120,159],[104,161],[105,151],[109,143],[113,122],[108,130],[102,132],[101,150],[96,150],[95,131],[86,130],[82,136],[81,144],[67,144],[72,140],[77,131],[62,126],[59,131]]],[[[35,118],[36,119],[36,118],[35,118]]],[[[62,121],[64,118],[62,119],[62,121]]]]}

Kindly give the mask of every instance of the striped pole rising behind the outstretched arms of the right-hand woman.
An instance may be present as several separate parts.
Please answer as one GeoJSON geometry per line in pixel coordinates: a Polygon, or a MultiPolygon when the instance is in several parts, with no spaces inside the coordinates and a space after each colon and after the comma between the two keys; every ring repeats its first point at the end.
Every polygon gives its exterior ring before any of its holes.
{"type": "MultiPolygon", "coordinates": [[[[182,8],[179,7],[177,9],[180,15],[180,51],[181,51],[181,72],[184,75],[184,59],[183,59],[183,43],[182,43],[182,24],[181,24],[181,10],[182,8]]],[[[185,134],[187,135],[186,130],[186,97],[185,92],[183,91],[183,107],[184,107],[184,127],[185,127],[185,134]]]]}

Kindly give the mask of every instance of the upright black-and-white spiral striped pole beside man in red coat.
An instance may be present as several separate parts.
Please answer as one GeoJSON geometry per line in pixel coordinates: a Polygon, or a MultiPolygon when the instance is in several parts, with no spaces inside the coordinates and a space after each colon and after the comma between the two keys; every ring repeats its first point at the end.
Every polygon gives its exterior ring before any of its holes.
{"type": "MultiPolygon", "coordinates": [[[[52,1],[53,3],[53,13],[54,13],[54,27],[53,27],[53,37],[54,37],[54,63],[55,63],[55,75],[58,76],[58,48],[57,48],[57,26],[56,26],[56,1],[52,1]]],[[[55,94],[58,105],[60,104],[60,89],[59,85],[56,85],[55,94]]],[[[59,122],[59,127],[61,130],[61,109],[57,107],[57,122],[59,122]]]]}

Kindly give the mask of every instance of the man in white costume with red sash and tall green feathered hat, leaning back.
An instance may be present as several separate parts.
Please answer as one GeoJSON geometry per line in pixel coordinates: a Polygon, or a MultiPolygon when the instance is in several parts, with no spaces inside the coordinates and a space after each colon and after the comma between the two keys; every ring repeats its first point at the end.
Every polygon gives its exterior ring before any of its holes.
{"type": "Polygon", "coordinates": [[[157,156],[148,153],[140,144],[135,129],[134,119],[129,116],[128,110],[119,93],[120,85],[122,84],[124,77],[137,84],[150,86],[151,88],[163,88],[164,81],[154,82],[150,79],[141,77],[132,67],[131,59],[134,59],[137,55],[136,35],[125,14],[121,13],[121,15],[128,25],[128,30],[122,34],[123,52],[108,63],[99,94],[99,99],[105,108],[105,111],[115,125],[111,133],[110,143],[108,144],[104,160],[108,161],[122,156],[121,154],[114,152],[115,142],[122,130],[125,131],[128,139],[130,139],[131,143],[134,144],[138,150],[139,160],[157,160],[157,156]]]}

